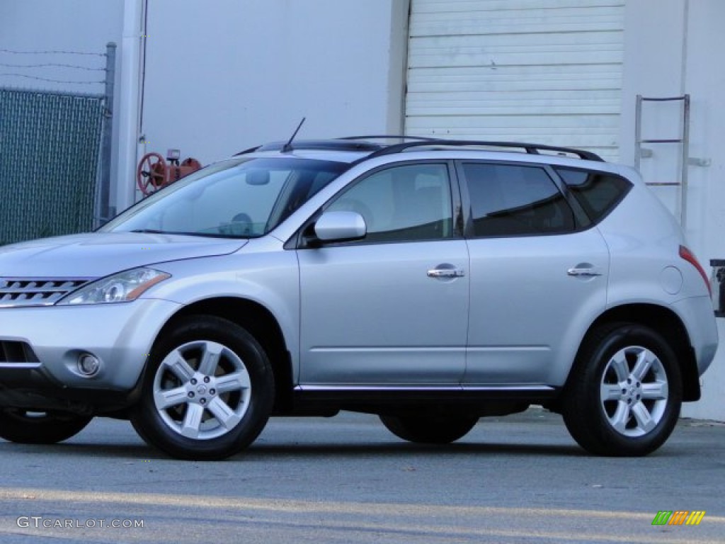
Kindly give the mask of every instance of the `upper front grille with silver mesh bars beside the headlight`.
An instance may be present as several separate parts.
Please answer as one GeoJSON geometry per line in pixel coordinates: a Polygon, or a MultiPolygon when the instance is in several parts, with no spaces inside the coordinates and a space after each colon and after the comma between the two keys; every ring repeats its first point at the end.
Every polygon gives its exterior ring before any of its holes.
{"type": "Polygon", "coordinates": [[[0,308],[49,306],[88,283],[88,279],[0,278],[0,308]]]}

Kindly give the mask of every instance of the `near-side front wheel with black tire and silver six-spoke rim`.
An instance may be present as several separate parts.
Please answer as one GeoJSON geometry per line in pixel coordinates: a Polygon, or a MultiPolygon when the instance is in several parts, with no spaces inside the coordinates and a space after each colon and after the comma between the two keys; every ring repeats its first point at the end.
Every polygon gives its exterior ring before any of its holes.
{"type": "Polygon", "coordinates": [[[257,340],[215,316],[191,316],[157,339],[131,423],[179,459],[215,461],[262,432],[274,403],[274,376],[257,340]]]}

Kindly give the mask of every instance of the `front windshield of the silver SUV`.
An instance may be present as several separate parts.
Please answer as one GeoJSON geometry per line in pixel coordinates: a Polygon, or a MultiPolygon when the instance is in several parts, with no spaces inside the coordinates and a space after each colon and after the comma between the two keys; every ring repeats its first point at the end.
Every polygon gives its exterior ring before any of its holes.
{"type": "Polygon", "coordinates": [[[152,194],[99,231],[262,236],[347,168],[344,162],[237,157],[152,194]]]}

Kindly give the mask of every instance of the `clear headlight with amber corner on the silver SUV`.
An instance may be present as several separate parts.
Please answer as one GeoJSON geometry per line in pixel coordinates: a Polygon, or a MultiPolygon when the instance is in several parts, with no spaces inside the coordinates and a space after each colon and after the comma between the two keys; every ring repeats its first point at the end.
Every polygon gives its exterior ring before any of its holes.
{"type": "Polygon", "coordinates": [[[171,275],[153,268],[133,268],[85,285],[68,294],[56,304],[105,304],[130,302],[171,275]]]}

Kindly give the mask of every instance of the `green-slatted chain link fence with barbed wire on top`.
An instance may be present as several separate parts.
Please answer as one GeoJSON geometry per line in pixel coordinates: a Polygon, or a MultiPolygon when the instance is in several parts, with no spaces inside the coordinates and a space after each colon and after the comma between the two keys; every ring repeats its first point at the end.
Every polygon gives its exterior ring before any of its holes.
{"type": "MultiPolygon", "coordinates": [[[[104,70],[112,77],[112,67],[104,70]]],[[[101,143],[109,147],[109,112],[107,93],[0,86],[0,244],[95,226],[99,195],[107,195],[99,173],[108,168],[101,143]]]]}

